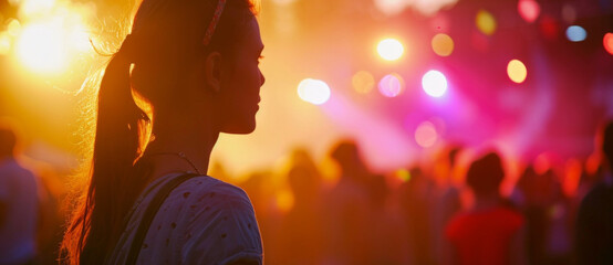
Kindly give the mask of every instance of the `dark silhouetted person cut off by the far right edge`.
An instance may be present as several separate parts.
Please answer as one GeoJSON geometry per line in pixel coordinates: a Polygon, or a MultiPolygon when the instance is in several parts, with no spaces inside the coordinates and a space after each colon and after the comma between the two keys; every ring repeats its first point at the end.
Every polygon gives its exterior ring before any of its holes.
{"type": "Polygon", "coordinates": [[[579,264],[613,264],[613,123],[602,134],[604,177],[585,195],[576,221],[579,264]]]}

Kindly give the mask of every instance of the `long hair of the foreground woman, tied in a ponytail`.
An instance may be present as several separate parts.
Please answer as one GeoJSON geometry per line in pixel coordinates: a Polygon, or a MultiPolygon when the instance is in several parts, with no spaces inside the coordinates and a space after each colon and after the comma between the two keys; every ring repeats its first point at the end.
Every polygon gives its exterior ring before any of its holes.
{"type": "Polygon", "coordinates": [[[63,264],[103,263],[148,181],[146,166],[138,166],[137,160],[147,145],[145,128],[150,126],[152,117],[138,106],[134,95],[142,95],[154,106],[169,104],[194,55],[219,51],[231,56],[232,44],[247,31],[246,18],[257,12],[253,1],[229,0],[210,44],[204,47],[199,40],[216,3],[217,0],[142,2],[131,34],[136,41],[124,41],[124,45],[135,47],[122,45],[100,83],[89,183],[81,191],[64,234],[60,253],[63,264]]]}

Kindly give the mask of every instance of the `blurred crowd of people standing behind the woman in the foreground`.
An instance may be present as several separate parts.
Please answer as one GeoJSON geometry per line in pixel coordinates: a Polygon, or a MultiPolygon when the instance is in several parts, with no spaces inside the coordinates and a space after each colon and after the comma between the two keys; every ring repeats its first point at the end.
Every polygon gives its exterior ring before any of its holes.
{"type": "MultiPolygon", "coordinates": [[[[10,150],[4,135],[2,148],[10,150]]],[[[249,194],[266,264],[610,264],[613,124],[596,138],[599,149],[579,169],[526,162],[507,193],[501,183],[512,158],[451,145],[406,169],[373,172],[359,142],[342,139],[319,160],[297,148],[282,169],[220,176],[249,194]],[[570,170],[580,178],[571,192],[564,190],[570,170]]],[[[58,204],[69,194],[60,183],[65,177],[23,155],[7,159],[37,172],[31,188],[45,206],[32,205],[38,210],[20,222],[35,224],[29,263],[3,264],[55,264],[67,215],[58,204]]],[[[214,168],[224,172],[221,163],[214,168]]],[[[2,197],[2,231],[15,232],[6,221],[10,200],[2,197]]]]}

